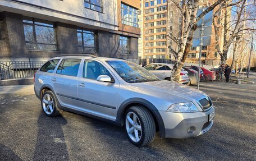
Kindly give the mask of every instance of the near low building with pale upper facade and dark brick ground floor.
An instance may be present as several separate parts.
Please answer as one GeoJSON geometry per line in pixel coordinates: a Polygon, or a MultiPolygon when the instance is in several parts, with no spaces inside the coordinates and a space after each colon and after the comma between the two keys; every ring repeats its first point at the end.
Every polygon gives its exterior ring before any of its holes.
{"type": "Polygon", "coordinates": [[[1,0],[0,59],[95,54],[138,58],[134,0],[1,0]]]}

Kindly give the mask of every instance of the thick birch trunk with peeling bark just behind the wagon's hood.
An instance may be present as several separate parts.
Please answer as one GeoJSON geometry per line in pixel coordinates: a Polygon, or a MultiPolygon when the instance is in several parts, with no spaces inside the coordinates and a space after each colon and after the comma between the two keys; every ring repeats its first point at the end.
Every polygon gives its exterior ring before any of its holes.
{"type": "MultiPolygon", "coordinates": [[[[182,27],[177,33],[178,35],[174,35],[173,33],[167,34],[168,38],[172,40],[173,43],[176,43],[177,48],[173,49],[171,45],[168,47],[170,52],[173,54],[175,58],[175,65],[173,65],[173,70],[171,73],[171,80],[175,82],[179,82],[180,71],[186,57],[188,57],[193,34],[197,27],[197,22],[208,12],[212,11],[215,7],[219,6],[227,2],[223,0],[217,0],[211,6],[207,7],[199,16],[196,15],[199,8],[199,0],[171,0],[175,7],[179,10],[180,15],[182,16],[182,27]]],[[[229,2],[229,1],[228,1],[229,2]]]]}

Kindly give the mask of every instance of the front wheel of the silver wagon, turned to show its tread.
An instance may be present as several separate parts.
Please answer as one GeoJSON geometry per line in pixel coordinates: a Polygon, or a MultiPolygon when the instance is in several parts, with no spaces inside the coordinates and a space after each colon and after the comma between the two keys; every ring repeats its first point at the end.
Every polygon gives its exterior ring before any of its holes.
{"type": "Polygon", "coordinates": [[[133,106],[126,111],[125,128],[129,140],[139,147],[150,144],[156,136],[154,118],[148,109],[141,106],[133,106]],[[134,119],[134,116],[136,116],[136,119],[134,119]],[[132,125],[131,121],[135,122],[135,124],[132,125]],[[138,137],[136,137],[136,134],[138,137]]]}

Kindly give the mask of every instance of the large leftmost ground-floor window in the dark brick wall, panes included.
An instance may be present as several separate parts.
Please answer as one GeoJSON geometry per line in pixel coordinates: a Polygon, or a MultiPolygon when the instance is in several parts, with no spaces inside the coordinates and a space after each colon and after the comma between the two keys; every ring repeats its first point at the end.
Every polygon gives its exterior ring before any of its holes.
{"type": "Polygon", "coordinates": [[[53,22],[24,17],[26,48],[28,50],[57,50],[53,22]]]}

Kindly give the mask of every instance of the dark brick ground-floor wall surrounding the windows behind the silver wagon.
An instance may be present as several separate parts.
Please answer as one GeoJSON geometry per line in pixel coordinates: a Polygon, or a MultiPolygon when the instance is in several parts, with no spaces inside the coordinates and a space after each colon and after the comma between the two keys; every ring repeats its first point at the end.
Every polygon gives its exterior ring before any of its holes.
{"type": "MultiPolygon", "coordinates": [[[[51,58],[60,54],[77,54],[77,26],[55,22],[58,51],[27,50],[22,15],[0,13],[0,59],[8,58],[51,58]]],[[[130,38],[130,53],[120,54],[119,35],[98,31],[98,56],[138,58],[138,38],[130,38]]]]}

